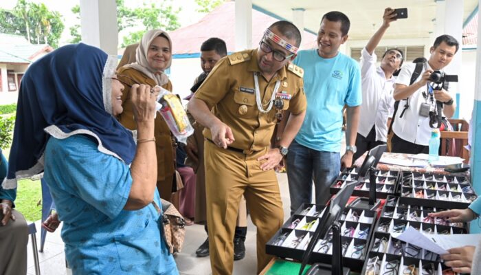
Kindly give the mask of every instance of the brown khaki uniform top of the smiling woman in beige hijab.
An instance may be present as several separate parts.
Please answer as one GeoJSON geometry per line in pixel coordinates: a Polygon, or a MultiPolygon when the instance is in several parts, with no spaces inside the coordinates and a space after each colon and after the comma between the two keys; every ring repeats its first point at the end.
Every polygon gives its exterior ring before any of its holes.
{"type": "MultiPolygon", "coordinates": [[[[155,80],[149,78],[142,72],[137,71],[131,67],[121,67],[117,71],[118,78],[122,79],[128,85],[133,85],[132,80],[128,78],[122,78],[122,75],[128,76],[135,80],[138,84],[147,84],[150,87],[157,85],[155,80]]],[[[162,86],[164,89],[172,91],[172,83],[169,82],[162,86]]],[[[122,107],[124,111],[118,115],[119,122],[124,125],[127,129],[135,130],[137,125],[133,117],[133,104],[131,101],[131,88],[125,87],[122,94],[122,107]]],[[[174,149],[172,147],[172,137],[170,135],[170,129],[167,126],[164,118],[157,113],[157,118],[155,118],[155,149],[157,151],[157,181],[162,181],[170,175],[174,175],[174,149]]]]}

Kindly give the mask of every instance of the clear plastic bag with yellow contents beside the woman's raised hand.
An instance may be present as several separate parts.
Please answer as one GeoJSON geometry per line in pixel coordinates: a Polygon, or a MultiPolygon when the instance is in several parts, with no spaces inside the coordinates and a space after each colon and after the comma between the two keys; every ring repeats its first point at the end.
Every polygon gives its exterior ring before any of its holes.
{"type": "Polygon", "coordinates": [[[189,118],[186,111],[183,109],[182,103],[170,91],[155,86],[154,89],[159,89],[159,96],[157,96],[156,109],[162,115],[162,118],[167,122],[167,125],[177,138],[179,142],[186,144],[187,137],[194,133],[194,128],[190,125],[189,118]]]}

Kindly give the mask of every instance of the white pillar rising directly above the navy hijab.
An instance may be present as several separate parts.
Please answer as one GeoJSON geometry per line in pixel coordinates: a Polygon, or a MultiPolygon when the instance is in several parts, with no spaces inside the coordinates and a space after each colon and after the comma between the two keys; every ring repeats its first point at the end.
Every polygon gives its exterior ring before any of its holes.
{"type": "Polygon", "coordinates": [[[80,0],[82,42],[117,55],[118,29],[115,0],[80,0]]]}

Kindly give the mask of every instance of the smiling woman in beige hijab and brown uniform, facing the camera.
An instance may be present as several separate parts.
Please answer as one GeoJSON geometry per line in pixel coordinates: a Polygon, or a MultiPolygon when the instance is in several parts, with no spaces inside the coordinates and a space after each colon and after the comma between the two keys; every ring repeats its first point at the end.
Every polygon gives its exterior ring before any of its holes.
{"type": "MultiPolygon", "coordinates": [[[[126,128],[135,130],[136,122],[131,102],[131,86],[135,83],[150,87],[159,85],[172,91],[172,83],[164,71],[172,62],[172,41],[163,30],[150,30],[144,34],[135,54],[136,62],[124,65],[117,71],[117,76],[125,83],[122,94],[124,112],[118,117],[126,128]]],[[[170,130],[161,115],[155,118],[155,148],[157,151],[157,190],[160,197],[170,201],[172,179],[175,175],[175,148],[170,130]]]]}

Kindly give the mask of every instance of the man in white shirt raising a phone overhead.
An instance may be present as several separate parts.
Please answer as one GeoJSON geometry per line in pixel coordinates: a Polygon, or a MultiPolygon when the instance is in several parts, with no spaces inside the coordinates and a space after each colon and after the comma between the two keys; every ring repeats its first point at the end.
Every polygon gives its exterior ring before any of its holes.
{"type": "Polygon", "coordinates": [[[362,105],[359,127],[357,128],[356,147],[357,159],[364,152],[386,143],[390,116],[394,108],[394,72],[403,65],[403,52],[399,49],[389,49],[383,54],[381,65],[376,66],[377,56],[374,49],[381,41],[392,21],[396,21],[396,13],[392,8],[385,8],[383,25],[371,37],[366,47],[361,51],[361,83],[362,105]]]}

